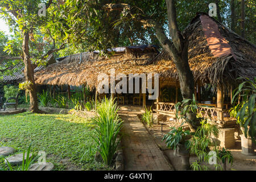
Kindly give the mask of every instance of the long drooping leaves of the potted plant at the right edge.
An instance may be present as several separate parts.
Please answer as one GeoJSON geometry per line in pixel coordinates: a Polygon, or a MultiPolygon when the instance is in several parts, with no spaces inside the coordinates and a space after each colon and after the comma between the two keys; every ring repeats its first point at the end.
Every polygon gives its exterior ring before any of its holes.
{"type": "MultiPolygon", "coordinates": [[[[238,78],[242,80],[242,78],[238,78]]],[[[232,104],[234,107],[230,109],[229,113],[237,118],[237,122],[244,129],[245,137],[247,134],[254,140],[256,139],[256,77],[254,80],[243,81],[238,88],[233,90],[232,104]],[[239,94],[242,97],[242,102],[236,104],[239,99],[239,94]]]]}

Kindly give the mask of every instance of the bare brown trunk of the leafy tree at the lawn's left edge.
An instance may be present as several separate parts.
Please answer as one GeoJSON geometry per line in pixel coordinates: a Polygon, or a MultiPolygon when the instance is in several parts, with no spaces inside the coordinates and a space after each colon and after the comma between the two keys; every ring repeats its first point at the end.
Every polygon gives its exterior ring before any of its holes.
{"type": "Polygon", "coordinates": [[[23,44],[22,44],[22,51],[23,51],[23,62],[25,65],[24,68],[24,77],[26,81],[30,81],[30,111],[32,113],[40,113],[38,109],[38,97],[36,95],[36,84],[34,79],[34,68],[32,67],[31,60],[30,60],[30,53],[28,47],[28,40],[29,34],[28,31],[23,31],[23,44]]]}

